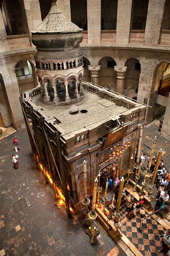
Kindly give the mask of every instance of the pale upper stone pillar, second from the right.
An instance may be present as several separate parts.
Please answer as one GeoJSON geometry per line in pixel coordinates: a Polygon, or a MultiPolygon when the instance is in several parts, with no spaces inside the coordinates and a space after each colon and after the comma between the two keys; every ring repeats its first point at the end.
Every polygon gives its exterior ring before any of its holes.
{"type": "Polygon", "coordinates": [[[131,12],[132,0],[118,0],[116,44],[123,45],[129,43],[131,12]]]}

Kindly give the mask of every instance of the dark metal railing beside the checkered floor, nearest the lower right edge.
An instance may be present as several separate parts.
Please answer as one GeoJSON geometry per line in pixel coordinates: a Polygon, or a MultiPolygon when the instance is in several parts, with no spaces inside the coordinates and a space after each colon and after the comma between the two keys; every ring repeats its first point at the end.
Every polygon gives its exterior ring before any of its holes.
{"type": "Polygon", "coordinates": [[[141,219],[141,223],[138,230],[141,231],[142,229],[146,228],[148,225],[152,224],[152,222],[154,222],[158,218],[164,219],[164,217],[166,217],[167,214],[169,213],[169,210],[170,210],[170,203],[165,205],[161,210],[158,209],[157,211],[147,215],[146,217],[141,219]]]}

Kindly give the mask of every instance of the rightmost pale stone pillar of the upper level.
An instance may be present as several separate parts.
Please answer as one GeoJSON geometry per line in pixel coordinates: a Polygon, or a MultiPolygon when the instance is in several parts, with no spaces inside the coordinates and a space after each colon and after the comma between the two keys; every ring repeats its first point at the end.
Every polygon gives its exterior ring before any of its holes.
{"type": "Polygon", "coordinates": [[[157,46],[161,32],[165,0],[149,0],[145,27],[145,45],[157,46]]]}

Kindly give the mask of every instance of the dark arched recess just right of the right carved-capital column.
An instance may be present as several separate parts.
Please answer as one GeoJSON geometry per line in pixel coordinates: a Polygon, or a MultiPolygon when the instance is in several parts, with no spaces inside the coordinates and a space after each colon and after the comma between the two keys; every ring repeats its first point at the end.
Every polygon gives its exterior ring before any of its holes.
{"type": "Polygon", "coordinates": [[[141,64],[136,58],[128,59],[125,64],[127,67],[125,79],[125,95],[133,100],[137,99],[139,78],[141,74],[141,64]]]}

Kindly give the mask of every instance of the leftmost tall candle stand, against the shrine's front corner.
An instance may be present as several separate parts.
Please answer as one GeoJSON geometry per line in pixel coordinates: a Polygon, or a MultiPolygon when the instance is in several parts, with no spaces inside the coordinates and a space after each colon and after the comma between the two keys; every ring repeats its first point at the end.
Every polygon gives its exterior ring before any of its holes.
{"type": "Polygon", "coordinates": [[[90,203],[90,199],[88,198],[87,163],[86,163],[85,160],[83,162],[83,176],[84,176],[84,198],[82,199],[82,204],[84,204],[84,206],[85,206],[85,217],[84,217],[82,226],[89,226],[90,225],[90,218],[89,218],[88,205],[90,203]]]}

